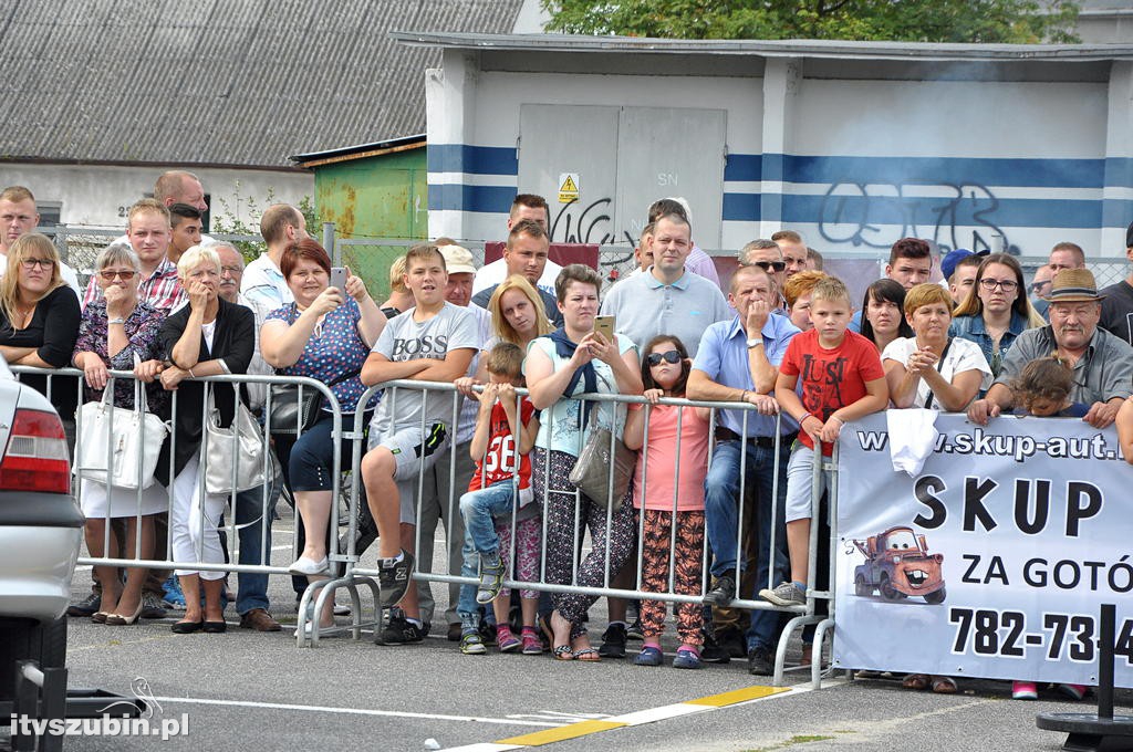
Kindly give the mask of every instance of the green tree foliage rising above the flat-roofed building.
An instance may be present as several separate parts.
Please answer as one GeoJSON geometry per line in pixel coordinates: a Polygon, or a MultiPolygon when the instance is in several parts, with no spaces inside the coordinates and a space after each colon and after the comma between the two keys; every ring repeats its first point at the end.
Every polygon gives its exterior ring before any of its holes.
{"type": "Polygon", "coordinates": [[[1077,42],[1073,0],[543,0],[547,31],[691,40],[1077,42]]]}

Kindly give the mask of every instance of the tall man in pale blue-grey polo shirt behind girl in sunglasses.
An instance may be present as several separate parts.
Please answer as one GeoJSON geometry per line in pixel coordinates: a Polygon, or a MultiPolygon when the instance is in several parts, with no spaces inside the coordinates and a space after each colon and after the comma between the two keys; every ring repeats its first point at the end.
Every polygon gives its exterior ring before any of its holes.
{"type": "Polygon", "coordinates": [[[651,250],[653,266],[611,288],[602,315],[613,316],[616,331],[642,352],[653,337],[672,334],[696,357],[700,335],[709,324],[731,318],[732,309],[719,288],[684,268],[692,250],[692,228],[684,217],[658,219],[651,250]]]}

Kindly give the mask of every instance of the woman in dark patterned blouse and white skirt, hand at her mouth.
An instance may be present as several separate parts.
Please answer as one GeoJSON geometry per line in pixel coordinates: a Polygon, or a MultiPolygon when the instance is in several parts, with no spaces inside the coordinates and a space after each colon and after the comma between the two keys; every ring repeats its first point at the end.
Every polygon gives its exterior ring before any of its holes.
{"type": "MultiPolygon", "coordinates": [[[[103,399],[108,370],[133,370],[138,379],[153,384],[143,387],[150,412],[165,417],[168,392],[154,384],[161,373],[157,332],[165,315],[138,297],[142,266],[137,254],[129,246],[116,243],[99,254],[94,267],[94,279],[103,294],[83,311],[71,358],[85,376],[84,400],[103,399]]],[[[134,379],[116,379],[114,405],[133,410],[137,387],[134,379]]],[[[165,510],[165,493],[159,484],[140,495],[118,488],[108,494],[105,484],[83,479],[79,504],[86,515],[86,547],[91,556],[101,558],[109,549],[111,557],[122,554],[125,558],[153,558],[153,515],[165,510]],[[121,523],[108,525],[113,519],[125,519],[125,541],[119,539],[121,523]]],[[[91,621],[110,625],[135,623],[142,610],[142,586],[147,573],[148,570],[128,569],[123,587],[117,567],[94,567],[94,576],[102,586],[102,600],[91,621]]]]}

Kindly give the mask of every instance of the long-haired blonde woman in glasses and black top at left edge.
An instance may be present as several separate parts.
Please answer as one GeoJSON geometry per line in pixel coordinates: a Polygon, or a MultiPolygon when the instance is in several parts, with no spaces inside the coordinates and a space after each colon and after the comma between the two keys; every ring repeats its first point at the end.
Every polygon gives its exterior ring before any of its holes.
{"type": "MultiPolygon", "coordinates": [[[[12,366],[62,368],[70,364],[79,323],[78,297],[59,275],[59,253],[39,232],[20,236],[8,248],[8,267],[0,280],[0,353],[12,366]]],[[[46,376],[20,381],[48,395],[46,376]]],[[[68,444],[74,446],[78,384],[74,378],[51,379],[56,405],[68,444]]]]}

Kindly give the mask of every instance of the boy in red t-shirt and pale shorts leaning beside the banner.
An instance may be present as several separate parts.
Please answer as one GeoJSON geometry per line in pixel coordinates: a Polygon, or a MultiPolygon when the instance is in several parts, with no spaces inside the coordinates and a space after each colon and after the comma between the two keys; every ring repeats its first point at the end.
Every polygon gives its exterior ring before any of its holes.
{"type": "Polygon", "coordinates": [[[810,297],[815,328],[798,334],[787,345],[775,382],[780,409],[799,421],[799,441],[786,470],[786,542],[791,555],[791,582],[759,597],[777,606],[807,603],[812,493],[829,486],[829,473],[819,473],[813,488],[815,442],[829,456],[842,426],[889,403],[889,388],[877,348],[850,324],[850,292],[836,277],[820,280],[810,297]],[[802,379],[802,398],[795,385],[802,379]]]}

